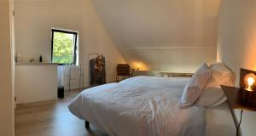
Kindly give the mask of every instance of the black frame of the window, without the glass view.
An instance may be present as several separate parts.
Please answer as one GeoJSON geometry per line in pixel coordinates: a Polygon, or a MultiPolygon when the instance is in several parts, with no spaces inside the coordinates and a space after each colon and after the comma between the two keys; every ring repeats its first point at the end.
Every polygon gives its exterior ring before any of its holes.
{"type": "Polygon", "coordinates": [[[77,50],[78,50],[78,32],[76,31],[66,31],[66,30],[61,30],[61,29],[51,29],[51,62],[53,62],[53,44],[54,44],[54,36],[55,32],[62,32],[62,33],[67,33],[67,34],[73,34],[74,35],[74,56],[73,56],[73,63],[66,64],[66,63],[58,63],[58,65],[76,65],[77,64],[77,50]]]}

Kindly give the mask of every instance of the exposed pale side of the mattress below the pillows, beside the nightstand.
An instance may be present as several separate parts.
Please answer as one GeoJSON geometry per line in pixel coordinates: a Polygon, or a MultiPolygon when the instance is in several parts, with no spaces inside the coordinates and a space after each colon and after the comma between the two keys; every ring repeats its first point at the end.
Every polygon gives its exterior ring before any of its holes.
{"type": "Polygon", "coordinates": [[[206,136],[234,136],[236,126],[229,105],[223,104],[206,108],[206,136]]]}

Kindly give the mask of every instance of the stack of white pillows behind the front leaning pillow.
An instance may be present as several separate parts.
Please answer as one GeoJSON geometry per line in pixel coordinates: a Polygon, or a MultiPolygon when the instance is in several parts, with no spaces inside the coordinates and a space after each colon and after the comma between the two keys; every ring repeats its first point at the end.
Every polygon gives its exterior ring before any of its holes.
{"type": "Polygon", "coordinates": [[[211,65],[210,69],[212,77],[208,80],[204,92],[196,101],[195,105],[206,107],[220,105],[226,100],[220,85],[234,86],[234,74],[224,63],[211,65]]]}

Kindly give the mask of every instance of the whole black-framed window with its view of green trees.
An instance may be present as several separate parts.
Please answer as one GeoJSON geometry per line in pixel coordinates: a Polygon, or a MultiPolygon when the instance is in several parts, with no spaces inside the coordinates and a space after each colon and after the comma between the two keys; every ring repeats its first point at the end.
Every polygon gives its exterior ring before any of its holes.
{"type": "Polygon", "coordinates": [[[59,65],[77,64],[78,32],[52,29],[51,62],[59,65]]]}

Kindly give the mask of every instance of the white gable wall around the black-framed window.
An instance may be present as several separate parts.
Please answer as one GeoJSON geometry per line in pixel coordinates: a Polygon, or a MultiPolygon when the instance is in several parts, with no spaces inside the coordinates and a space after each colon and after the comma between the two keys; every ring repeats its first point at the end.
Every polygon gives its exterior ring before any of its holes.
{"type": "Polygon", "coordinates": [[[79,64],[84,65],[84,84],[89,83],[90,53],[107,57],[107,82],[115,80],[115,68],[124,62],[90,0],[15,1],[16,53],[24,60],[50,61],[52,27],[79,31],[79,64]]]}

